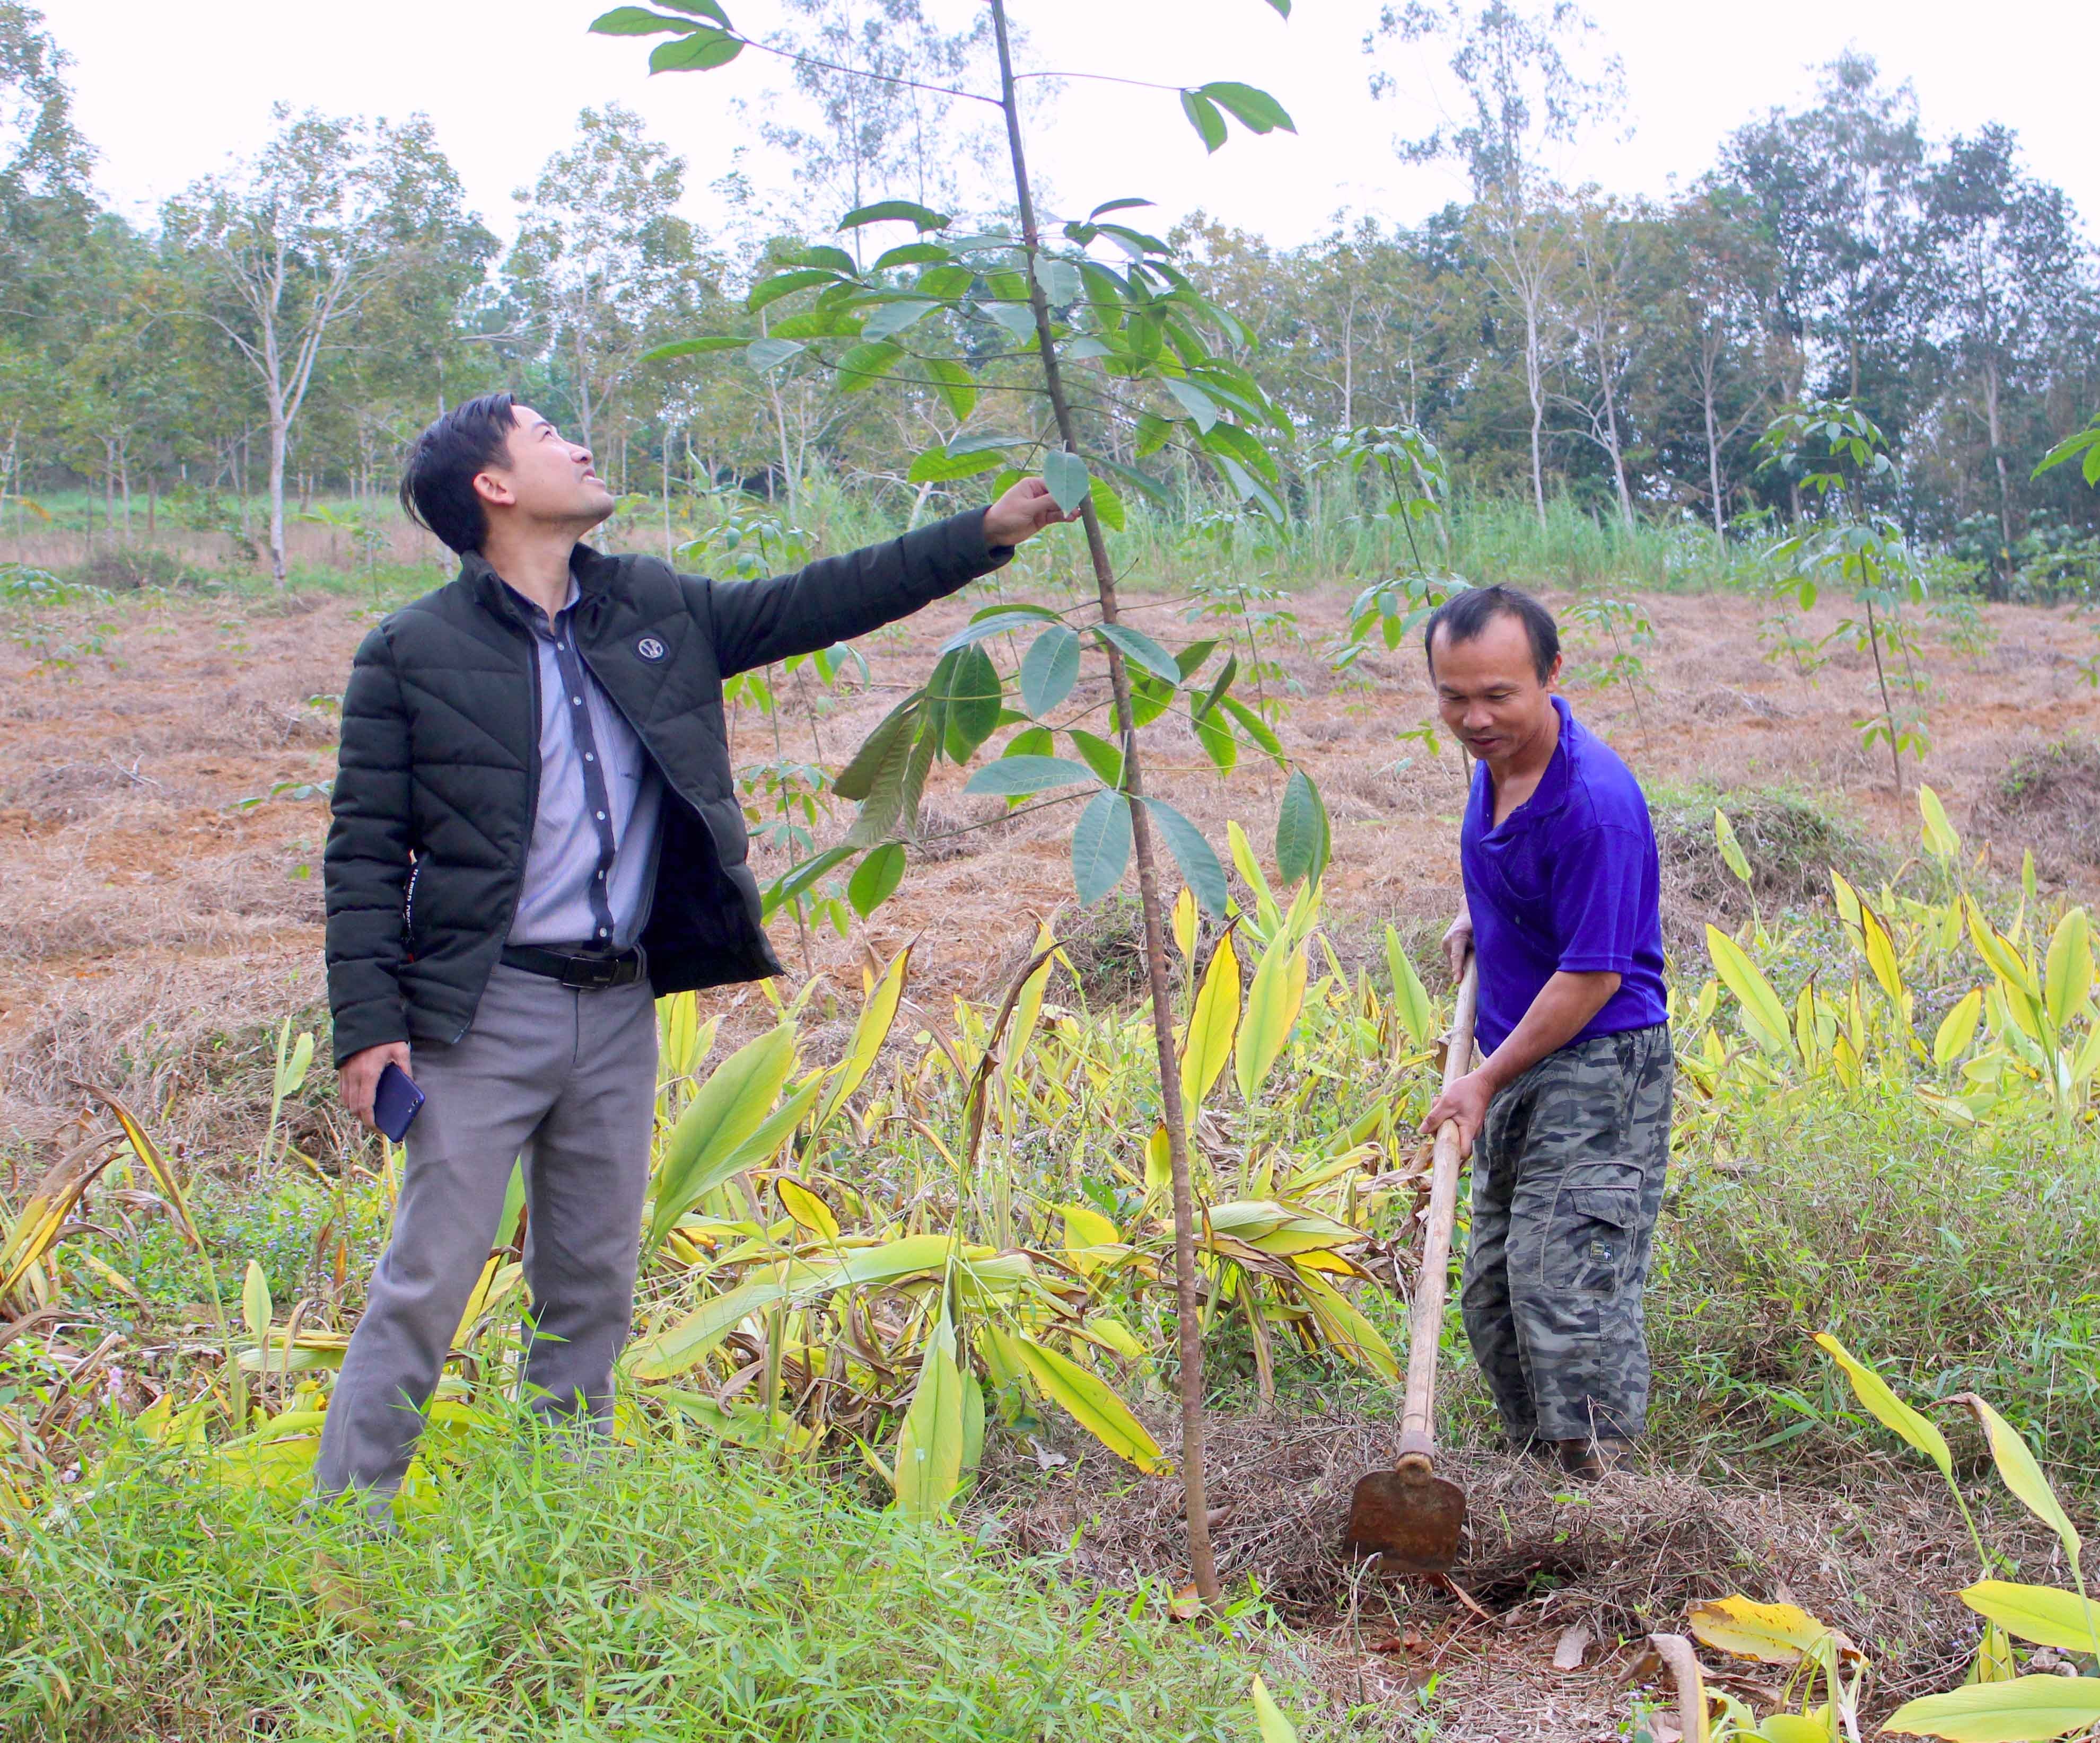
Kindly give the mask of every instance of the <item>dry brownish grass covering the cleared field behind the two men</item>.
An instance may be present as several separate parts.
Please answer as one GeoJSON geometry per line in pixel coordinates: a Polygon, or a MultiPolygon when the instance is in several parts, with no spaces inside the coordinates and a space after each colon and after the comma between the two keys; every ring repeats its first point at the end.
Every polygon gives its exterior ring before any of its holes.
{"type": "MultiPolygon", "coordinates": [[[[326,529],[309,529],[326,531],[326,529]]],[[[1329,916],[1346,956],[1376,956],[1380,924],[1409,937],[1441,930],[1457,897],[1457,756],[1426,754],[1392,735],[1430,716],[1415,651],[1359,666],[1365,687],[1338,689],[1319,657],[1346,594],[1296,601],[1304,645],[1285,649],[1294,695],[1281,727],[1327,794],[1336,827],[1329,916]],[[1359,949],[1361,945],[1361,949],[1359,949]]],[[[827,752],[855,743],[922,676],[939,640],[976,598],[943,603],[869,638],[882,689],[827,704],[817,731],[827,752]]],[[[1640,720],[1623,687],[1575,691],[1586,720],[1651,781],[1714,788],[1842,792],[1858,825],[1907,850],[1911,800],[1888,794],[1886,769],[1858,750],[1865,706],[1858,672],[1827,670],[1810,689],[1770,666],[1758,645],[1758,607],[1732,596],[1655,596],[1657,630],[1640,720]]],[[[1134,594],[1132,620],[1153,634],[1193,634],[1174,603],[1134,594]]],[[[52,620],[55,613],[42,613],[52,620]]],[[[74,628],[109,624],[103,651],[69,674],[38,670],[34,653],[0,643],[0,1147],[38,1144],[78,1111],[67,1082],[126,1084],[166,1105],[191,1142],[237,1142],[254,1096],[220,1090],[185,1111],[206,1082],[227,1077],[229,1054],[254,1050],[288,1010],[319,1004],[319,800],[242,800],[279,783],[321,781],[334,762],[334,716],[351,651],[372,611],[340,596],[227,601],[139,594],[80,611],[74,628]],[[321,697],[317,706],[311,699],[321,697]],[[315,876],[294,876],[298,867],[315,876]]],[[[1989,607],[1999,640],[1964,666],[1947,662],[1934,708],[1928,777],[1957,823],[1995,817],[1997,781],[2022,746],[2100,731],[2100,695],[2079,682],[2071,651],[2081,626],[2064,613],[1989,607]]],[[[59,628],[69,620],[57,613],[59,628]]],[[[1588,657],[1571,647],[1579,670],[1588,657]]],[[[794,708],[792,693],[790,710],[794,708]]],[[[785,722],[798,750],[808,727],[785,722]]],[[[1243,766],[1226,785],[1184,727],[1151,733],[1153,792],[1214,840],[1226,817],[1266,838],[1279,783],[1243,766]]],[[[746,743],[741,754],[752,754],[746,743]]],[[[930,832],[979,823],[991,811],[960,796],[943,769],[928,796],[930,832]]],[[[918,937],[916,985],[928,1008],[949,993],[979,995],[1033,932],[1033,918],[1069,907],[1069,808],[1050,808],[976,834],[928,842],[899,895],[850,939],[813,937],[813,962],[842,985],[872,949],[886,958],[918,937]]],[[[762,874],[779,869],[758,855],[762,874]]],[[[2066,861],[2075,886],[2100,867],[2066,861]]],[[[1697,882],[1697,880],[1693,880],[1697,882]]],[[[1697,937],[1712,897],[1680,882],[1695,909],[1674,916],[1697,937]]],[[[783,960],[798,943],[781,928],[783,960]]],[[[1111,928],[1113,930],[1113,928],[1111,928]]],[[[1113,951],[1113,941],[1102,941],[1113,951]]],[[[735,998],[735,995],[729,995],[735,998]]],[[[727,1006],[727,1000],[724,1000],[727,1006]]],[[[758,1021],[758,1002],[731,1025],[758,1021]]],[[[246,1067],[254,1071],[250,1060],[246,1067]]],[[[235,1073],[237,1075],[237,1073],[235,1073]]]]}

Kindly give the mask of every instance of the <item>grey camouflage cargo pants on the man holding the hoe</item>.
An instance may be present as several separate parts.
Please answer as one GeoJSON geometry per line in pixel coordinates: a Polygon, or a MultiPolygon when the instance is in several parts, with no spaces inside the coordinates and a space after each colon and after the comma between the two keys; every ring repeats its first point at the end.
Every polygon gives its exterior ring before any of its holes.
{"type": "Polygon", "coordinates": [[[1642,1289],[1674,1082],[1657,1023],[1548,1054],[1489,1102],[1462,1308],[1518,1445],[1625,1441],[1646,1422],[1642,1289]]]}

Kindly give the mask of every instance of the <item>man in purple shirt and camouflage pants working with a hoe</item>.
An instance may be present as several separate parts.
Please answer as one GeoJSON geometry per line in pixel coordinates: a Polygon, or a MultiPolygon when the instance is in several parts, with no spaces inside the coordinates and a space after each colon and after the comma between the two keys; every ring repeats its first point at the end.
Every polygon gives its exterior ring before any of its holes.
{"type": "Polygon", "coordinates": [[[1642,1289],[1670,1161],[1655,830],[1640,783],[1554,695],[1560,634],[1514,588],[1428,622],[1436,708],[1476,758],[1453,974],[1480,1063],[1430,1109],[1472,1155],[1466,1338],[1516,1449],[1600,1476],[1642,1432],[1642,1289]]]}

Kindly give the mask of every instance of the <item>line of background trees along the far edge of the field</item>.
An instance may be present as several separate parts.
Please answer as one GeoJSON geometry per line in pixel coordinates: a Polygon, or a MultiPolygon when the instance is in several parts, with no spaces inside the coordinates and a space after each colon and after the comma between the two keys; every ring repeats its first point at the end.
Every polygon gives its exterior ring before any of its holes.
{"type": "MultiPolygon", "coordinates": [[[[983,52],[918,0],[794,0],[792,17],[785,38],[834,67],[966,82],[983,52]]],[[[1399,149],[1464,166],[1468,200],[1415,227],[1338,216],[1298,248],[1203,214],[1174,237],[1260,353],[1289,424],[1287,508],[1348,491],[1321,464],[1338,433],[1415,424],[1460,489],[1749,538],[1802,510],[1756,449],[1770,418],[1850,399],[1898,460],[1877,506],[1993,590],[2090,552],[2094,494],[2073,468],[2031,470],[2100,403],[2100,277],[2012,130],[1934,139],[1907,86],[1848,55],[1676,197],[1623,200],[1541,168],[1621,101],[1611,63],[1583,69],[1577,40],[1499,4],[1386,13],[1367,46],[1407,38],[1451,46],[1472,109],[1399,149]]],[[[914,477],[911,456],[968,452],[1006,416],[998,395],[960,407],[937,382],[840,380],[806,353],[647,355],[792,336],[802,296],[750,309],[743,292],[834,242],[848,206],[968,210],[983,141],[920,86],[798,67],[800,120],[750,122],[802,166],[798,193],[769,202],[731,164],[714,235],[680,216],[687,162],[632,111],[586,107],[506,242],[424,118],[281,107],[252,158],[134,225],[97,197],[65,69],[42,17],[0,0],[0,512],[17,531],[40,494],[84,485],[109,529],[223,525],[281,580],[288,512],[317,491],[384,498],[403,443],[489,386],[573,428],[622,491],[741,483],[794,514],[844,487],[905,519],[974,489],[926,475],[953,466],[914,477]]],[[[1134,405],[1086,416],[1170,510],[1233,496],[1205,462],[1157,454],[1134,405]]]]}

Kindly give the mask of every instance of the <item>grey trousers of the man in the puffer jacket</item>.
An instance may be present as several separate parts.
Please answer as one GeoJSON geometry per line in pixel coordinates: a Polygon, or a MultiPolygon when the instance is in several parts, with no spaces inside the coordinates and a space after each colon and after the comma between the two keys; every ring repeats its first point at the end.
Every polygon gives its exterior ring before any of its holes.
{"type": "Polygon", "coordinates": [[[313,1487],[376,1502],[401,1485],[422,1409],[496,1239],[510,1166],[525,1166],[525,1394],[548,1418],[611,1415],[613,1359],[634,1315],[655,995],[571,991],[496,966],[466,1035],[416,1042],[424,1092],[407,1134],[393,1239],[328,1403],[313,1487]]]}

